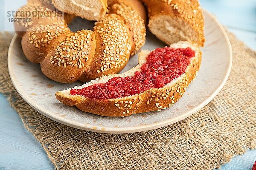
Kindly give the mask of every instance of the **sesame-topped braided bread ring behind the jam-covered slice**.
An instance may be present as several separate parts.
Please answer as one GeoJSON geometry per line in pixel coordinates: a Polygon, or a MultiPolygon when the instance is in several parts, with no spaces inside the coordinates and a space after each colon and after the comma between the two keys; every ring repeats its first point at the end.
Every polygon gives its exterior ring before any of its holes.
{"type": "Polygon", "coordinates": [[[51,0],[29,0],[16,17],[25,18],[23,11],[37,11],[25,16],[31,22],[15,24],[23,52],[57,82],[87,82],[117,73],[145,43],[145,9],[139,0],[110,0],[109,13],[93,31],[70,31],[67,23],[74,16],[56,10],[51,0]]]}

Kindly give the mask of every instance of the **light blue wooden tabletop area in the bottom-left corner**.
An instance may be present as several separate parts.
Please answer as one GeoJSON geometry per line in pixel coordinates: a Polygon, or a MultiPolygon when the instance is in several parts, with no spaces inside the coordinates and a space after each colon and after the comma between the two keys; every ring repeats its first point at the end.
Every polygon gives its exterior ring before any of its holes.
{"type": "Polygon", "coordinates": [[[53,170],[41,144],[0,94],[0,170],[53,170]]]}

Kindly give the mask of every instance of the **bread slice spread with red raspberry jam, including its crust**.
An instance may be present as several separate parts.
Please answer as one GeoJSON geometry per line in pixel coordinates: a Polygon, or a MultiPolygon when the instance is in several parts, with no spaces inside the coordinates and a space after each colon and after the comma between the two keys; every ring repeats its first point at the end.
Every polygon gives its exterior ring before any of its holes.
{"type": "Polygon", "coordinates": [[[139,64],[123,74],[103,76],[55,96],[65,105],[102,116],[160,111],[183,96],[200,65],[198,45],[178,42],[140,52],[139,64]]]}

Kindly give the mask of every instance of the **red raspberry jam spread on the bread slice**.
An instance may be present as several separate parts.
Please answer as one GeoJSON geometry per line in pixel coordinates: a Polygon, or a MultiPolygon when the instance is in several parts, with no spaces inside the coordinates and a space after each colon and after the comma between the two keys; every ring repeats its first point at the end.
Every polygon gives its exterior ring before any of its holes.
{"type": "Polygon", "coordinates": [[[93,99],[116,99],[140,94],[151,88],[162,88],[185,73],[190,58],[195,57],[191,48],[157,48],[134,76],[114,77],[106,83],[70,90],[71,95],[82,95],[93,99]]]}

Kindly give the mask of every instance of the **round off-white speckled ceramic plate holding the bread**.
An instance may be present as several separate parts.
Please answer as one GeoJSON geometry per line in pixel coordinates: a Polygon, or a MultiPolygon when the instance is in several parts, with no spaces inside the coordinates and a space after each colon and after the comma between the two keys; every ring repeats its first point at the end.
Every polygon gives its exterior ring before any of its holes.
{"type": "MultiPolygon", "coordinates": [[[[9,48],[8,67],[12,82],[20,96],[35,110],[62,124],[102,133],[132,133],[151,130],[178,122],[209,103],[227,81],[232,65],[232,51],[227,34],[218,20],[207,11],[205,15],[206,44],[202,48],[201,69],[185,95],[163,111],[140,113],[123,118],[110,118],[84,113],[55,99],[55,92],[82,84],[61,84],[45,77],[37,64],[29,62],[22,52],[20,38],[15,36],[9,48]]],[[[70,28],[92,28],[93,22],[76,19],[70,28]]],[[[143,49],[153,50],[165,46],[148,33],[143,49]]],[[[137,65],[137,56],[130,59],[123,71],[137,65]]],[[[123,72],[122,71],[122,72],[123,72]]]]}

